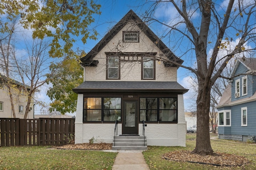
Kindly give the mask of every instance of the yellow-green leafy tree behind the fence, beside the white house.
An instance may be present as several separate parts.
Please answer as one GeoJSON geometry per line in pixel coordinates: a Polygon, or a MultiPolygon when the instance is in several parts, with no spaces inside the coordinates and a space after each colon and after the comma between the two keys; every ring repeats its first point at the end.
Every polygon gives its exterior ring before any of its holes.
{"type": "Polygon", "coordinates": [[[76,111],[77,94],[72,88],[79,86],[83,82],[83,69],[78,63],[80,56],[71,55],[62,62],[52,63],[48,74],[47,83],[52,87],[47,91],[47,95],[52,102],[50,112],[60,111],[60,113],[74,113],[76,111]]]}

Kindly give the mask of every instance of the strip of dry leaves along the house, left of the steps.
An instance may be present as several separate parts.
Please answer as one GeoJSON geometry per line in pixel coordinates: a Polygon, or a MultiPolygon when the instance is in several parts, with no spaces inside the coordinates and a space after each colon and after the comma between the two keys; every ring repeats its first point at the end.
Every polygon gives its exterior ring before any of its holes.
{"type": "Polygon", "coordinates": [[[57,149],[84,149],[84,150],[111,150],[111,143],[80,143],[80,144],[68,144],[57,149]]]}

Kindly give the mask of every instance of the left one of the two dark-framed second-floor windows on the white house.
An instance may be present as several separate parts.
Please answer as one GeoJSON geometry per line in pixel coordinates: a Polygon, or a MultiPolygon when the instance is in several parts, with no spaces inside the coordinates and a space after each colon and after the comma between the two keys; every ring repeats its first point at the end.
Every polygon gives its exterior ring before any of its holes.
{"type": "Polygon", "coordinates": [[[120,63],[118,57],[107,57],[107,80],[120,80],[120,63]]]}

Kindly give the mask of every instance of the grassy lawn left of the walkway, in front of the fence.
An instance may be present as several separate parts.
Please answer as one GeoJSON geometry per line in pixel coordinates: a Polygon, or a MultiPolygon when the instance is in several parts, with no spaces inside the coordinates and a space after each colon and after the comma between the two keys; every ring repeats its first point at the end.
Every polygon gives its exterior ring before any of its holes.
{"type": "Polygon", "coordinates": [[[48,147],[0,147],[0,169],[111,170],[117,153],[50,150],[48,147]]]}

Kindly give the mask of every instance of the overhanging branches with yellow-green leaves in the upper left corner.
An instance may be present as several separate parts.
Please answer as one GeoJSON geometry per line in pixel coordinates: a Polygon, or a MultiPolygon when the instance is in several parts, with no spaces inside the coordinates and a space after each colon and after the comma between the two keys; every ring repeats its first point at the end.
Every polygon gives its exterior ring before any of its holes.
{"type": "Polygon", "coordinates": [[[20,25],[33,31],[33,39],[52,39],[50,57],[63,57],[72,53],[78,36],[83,43],[96,39],[96,30],[88,29],[94,14],[100,14],[100,5],[93,0],[1,0],[0,32],[12,33],[8,24],[18,16],[20,25]]]}

